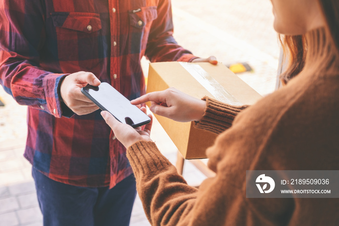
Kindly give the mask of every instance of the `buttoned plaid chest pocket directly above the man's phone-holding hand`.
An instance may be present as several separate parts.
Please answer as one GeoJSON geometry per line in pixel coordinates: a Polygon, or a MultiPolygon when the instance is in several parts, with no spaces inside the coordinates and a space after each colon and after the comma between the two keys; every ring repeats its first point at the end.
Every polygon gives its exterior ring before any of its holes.
{"type": "Polygon", "coordinates": [[[101,20],[99,14],[51,13],[57,35],[58,59],[68,71],[91,70],[98,65],[101,20]],[[79,62],[78,64],[74,64],[79,62]],[[77,68],[74,65],[78,65],[77,68]]]}

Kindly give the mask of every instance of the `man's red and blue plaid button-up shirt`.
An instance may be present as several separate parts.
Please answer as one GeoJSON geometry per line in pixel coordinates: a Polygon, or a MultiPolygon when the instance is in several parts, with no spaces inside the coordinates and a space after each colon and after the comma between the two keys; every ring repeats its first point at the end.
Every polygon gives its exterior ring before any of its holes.
{"type": "Polygon", "coordinates": [[[145,93],[140,59],[191,61],[172,37],[170,0],[0,0],[0,83],[28,105],[24,156],[66,184],[108,186],[132,173],[100,111],[72,113],[63,76],[90,71],[125,97],[145,93]]]}

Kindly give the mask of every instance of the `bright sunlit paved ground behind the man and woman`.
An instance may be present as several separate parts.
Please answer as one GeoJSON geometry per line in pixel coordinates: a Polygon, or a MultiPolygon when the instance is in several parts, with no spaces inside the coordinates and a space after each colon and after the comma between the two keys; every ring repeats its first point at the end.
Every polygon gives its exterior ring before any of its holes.
{"type": "MultiPolygon", "coordinates": [[[[215,55],[225,64],[247,62],[252,72],[239,77],[262,95],[275,88],[279,48],[269,0],[172,0],[175,38],[201,57],[215,55]],[[208,3],[208,4],[207,4],[208,3]]],[[[0,98],[0,226],[41,226],[31,165],[22,157],[27,135],[25,106],[19,106],[2,87],[0,98]]],[[[152,138],[173,163],[176,148],[158,123],[152,138]]],[[[189,162],[184,177],[198,185],[204,176],[189,162]]],[[[139,199],[131,226],[149,226],[139,199]]]]}

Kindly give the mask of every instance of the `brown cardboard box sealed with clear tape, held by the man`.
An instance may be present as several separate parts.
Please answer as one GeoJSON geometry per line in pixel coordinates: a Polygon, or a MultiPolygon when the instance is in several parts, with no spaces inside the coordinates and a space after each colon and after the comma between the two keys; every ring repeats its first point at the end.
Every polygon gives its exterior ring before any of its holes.
{"type": "MultiPolygon", "coordinates": [[[[147,93],[174,87],[193,97],[204,96],[232,105],[254,104],[261,98],[225,65],[210,63],[161,62],[149,67],[147,93]]],[[[147,103],[150,106],[150,103],[147,103]]],[[[206,158],[206,148],[216,134],[194,128],[194,122],[175,122],[155,115],[185,159],[206,158]]]]}

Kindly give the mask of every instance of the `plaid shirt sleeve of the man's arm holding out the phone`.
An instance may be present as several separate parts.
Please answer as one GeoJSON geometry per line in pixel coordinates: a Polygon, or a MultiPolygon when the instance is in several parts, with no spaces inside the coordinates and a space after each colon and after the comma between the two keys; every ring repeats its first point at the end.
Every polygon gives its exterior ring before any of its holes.
{"type": "Polygon", "coordinates": [[[0,83],[16,102],[62,116],[59,85],[65,74],[40,67],[45,42],[40,0],[0,0],[0,83]]]}

